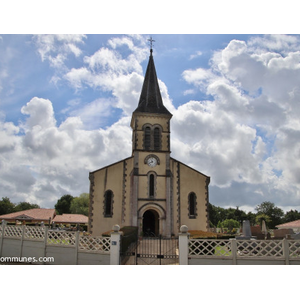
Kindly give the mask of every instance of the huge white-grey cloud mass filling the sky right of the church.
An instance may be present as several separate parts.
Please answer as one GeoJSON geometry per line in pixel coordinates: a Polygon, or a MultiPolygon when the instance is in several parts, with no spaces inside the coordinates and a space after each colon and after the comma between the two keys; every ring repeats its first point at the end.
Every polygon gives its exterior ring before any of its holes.
{"type": "Polygon", "coordinates": [[[265,199],[272,190],[273,201],[298,205],[298,49],[298,38],[289,36],[232,40],[214,54],[211,68],[183,72],[188,83],[215,99],[179,107],[173,121],[189,145],[188,162],[204,169],[212,185],[247,183],[265,199]]]}

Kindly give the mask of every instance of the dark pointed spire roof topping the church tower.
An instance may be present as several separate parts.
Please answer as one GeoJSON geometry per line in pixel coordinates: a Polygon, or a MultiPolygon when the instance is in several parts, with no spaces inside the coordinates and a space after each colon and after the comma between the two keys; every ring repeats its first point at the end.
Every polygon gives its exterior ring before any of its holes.
{"type": "Polygon", "coordinates": [[[152,52],[151,49],[139,104],[134,112],[171,115],[161,98],[152,52]]]}

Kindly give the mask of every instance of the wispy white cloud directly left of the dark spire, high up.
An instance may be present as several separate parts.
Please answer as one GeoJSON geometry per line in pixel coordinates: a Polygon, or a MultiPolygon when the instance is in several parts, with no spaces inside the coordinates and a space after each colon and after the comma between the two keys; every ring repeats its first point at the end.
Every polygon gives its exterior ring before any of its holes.
{"type": "Polygon", "coordinates": [[[94,54],[85,56],[85,67],[72,68],[64,78],[78,91],[85,86],[109,91],[114,97],[111,105],[131,115],[139,99],[143,70],[141,62],[149,50],[140,43],[138,36],[112,38],[109,47],[102,47],[94,54]],[[140,46],[136,46],[138,43],[140,46]],[[122,56],[119,47],[126,46],[128,55],[122,56]]]}

